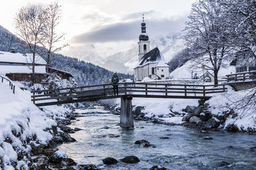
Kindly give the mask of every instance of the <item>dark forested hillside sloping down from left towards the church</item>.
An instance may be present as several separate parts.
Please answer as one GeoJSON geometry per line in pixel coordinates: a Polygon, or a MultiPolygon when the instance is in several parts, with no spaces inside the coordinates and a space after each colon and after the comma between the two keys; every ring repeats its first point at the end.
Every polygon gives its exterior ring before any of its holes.
{"type": "MultiPolygon", "coordinates": [[[[26,43],[0,25],[0,51],[10,52],[13,47],[16,49],[16,52],[30,53],[26,43]]],[[[44,59],[47,57],[45,49],[42,47],[39,48],[38,54],[44,59]]],[[[79,85],[108,83],[113,74],[113,72],[104,69],[103,67],[95,66],[90,62],[84,62],[57,53],[52,54],[52,62],[50,66],[70,72],[79,85]]],[[[129,74],[120,73],[118,75],[123,78],[132,78],[129,74]]]]}

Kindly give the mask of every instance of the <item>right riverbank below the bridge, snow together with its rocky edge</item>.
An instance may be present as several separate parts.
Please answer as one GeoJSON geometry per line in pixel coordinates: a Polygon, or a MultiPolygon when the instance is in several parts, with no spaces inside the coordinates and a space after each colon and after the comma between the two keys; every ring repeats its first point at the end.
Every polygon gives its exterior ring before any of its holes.
{"type": "MultiPolygon", "coordinates": [[[[132,99],[132,105],[134,106],[133,111],[135,115],[143,113],[141,117],[163,124],[188,125],[188,122],[192,122],[193,125],[205,127],[204,124],[207,123],[207,120],[213,118],[211,121],[216,121],[220,129],[255,132],[255,106],[249,104],[248,106],[241,107],[236,103],[236,101],[248,96],[248,93],[251,91],[252,89],[235,92],[232,87],[228,87],[228,92],[215,94],[205,102],[204,108],[197,110],[196,113],[194,113],[193,108],[198,108],[198,99],[134,98],[132,99]],[[187,106],[191,106],[192,114],[185,110],[187,106]],[[205,120],[205,114],[210,114],[207,120],[205,120]],[[189,118],[193,116],[195,116],[196,120],[189,121],[189,118]],[[187,119],[184,117],[187,117],[187,119]]],[[[116,99],[115,103],[116,108],[120,108],[120,100],[116,99]]]]}

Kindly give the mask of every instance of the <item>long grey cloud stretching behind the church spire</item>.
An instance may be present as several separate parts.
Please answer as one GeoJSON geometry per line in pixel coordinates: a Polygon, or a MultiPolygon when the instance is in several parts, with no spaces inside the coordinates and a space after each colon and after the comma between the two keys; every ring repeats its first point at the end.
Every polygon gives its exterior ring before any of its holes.
{"type": "MultiPolygon", "coordinates": [[[[131,18],[132,15],[129,17],[131,18]]],[[[187,17],[147,20],[147,34],[150,38],[164,36],[170,32],[182,31],[186,20],[187,17]]],[[[138,39],[141,32],[140,23],[141,20],[135,20],[104,25],[99,27],[99,29],[79,34],[75,36],[72,41],[74,43],[104,43],[138,39]]]]}

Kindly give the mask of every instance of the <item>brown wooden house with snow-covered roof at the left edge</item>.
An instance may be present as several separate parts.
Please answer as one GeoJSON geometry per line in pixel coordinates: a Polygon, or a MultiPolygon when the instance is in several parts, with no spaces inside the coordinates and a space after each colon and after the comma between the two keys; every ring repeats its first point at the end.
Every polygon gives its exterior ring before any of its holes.
{"type": "MultiPolygon", "coordinates": [[[[13,81],[30,81],[32,76],[32,59],[33,53],[16,53],[13,49],[12,52],[0,52],[0,74],[8,76],[13,81]]],[[[66,71],[53,68],[50,68],[47,72],[45,60],[40,55],[36,55],[35,83],[41,83],[51,73],[58,74],[63,81],[73,77],[66,71]]]]}

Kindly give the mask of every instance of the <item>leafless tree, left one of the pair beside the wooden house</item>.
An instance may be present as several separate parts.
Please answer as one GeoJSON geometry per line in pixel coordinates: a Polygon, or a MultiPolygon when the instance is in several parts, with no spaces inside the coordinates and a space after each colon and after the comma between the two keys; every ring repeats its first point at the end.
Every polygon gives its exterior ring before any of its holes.
{"type": "Polygon", "coordinates": [[[15,17],[15,27],[17,35],[24,40],[31,52],[33,53],[32,59],[32,84],[35,83],[35,56],[39,37],[44,30],[45,11],[42,6],[30,6],[28,8],[22,7],[15,17]]]}

